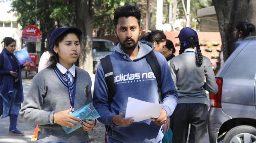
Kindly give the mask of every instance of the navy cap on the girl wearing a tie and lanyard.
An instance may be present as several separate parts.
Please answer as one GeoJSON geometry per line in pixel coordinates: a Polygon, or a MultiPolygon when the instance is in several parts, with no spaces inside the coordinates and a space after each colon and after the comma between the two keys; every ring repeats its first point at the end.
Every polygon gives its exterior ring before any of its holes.
{"type": "Polygon", "coordinates": [[[50,45],[50,49],[53,51],[54,48],[54,44],[55,44],[55,40],[56,38],[58,38],[59,36],[61,36],[61,34],[63,34],[66,31],[75,31],[77,32],[79,35],[82,35],[82,31],[76,27],[58,27],[56,28],[52,33],[51,33],[51,37],[49,40],[49,45],[50,45]]]}

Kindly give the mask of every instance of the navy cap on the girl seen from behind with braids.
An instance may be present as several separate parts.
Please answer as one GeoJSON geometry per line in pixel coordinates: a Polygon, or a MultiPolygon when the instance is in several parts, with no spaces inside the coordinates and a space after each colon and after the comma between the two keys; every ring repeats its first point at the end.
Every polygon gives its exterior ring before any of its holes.
{"type": "Polygon", "coordinates": [[[181,41],[187,41],[187,42],[190,42],[190,43],[198,42],[197,33],[195,32],[195,30],[193,30],[189,27],[182,28],[180,30],[179,36],[177,36],[175,38],[180,38],[181,41]],[[189,38],[190,36],[194,36],[195,40],[191,41],[191,39],[189,38]]]}

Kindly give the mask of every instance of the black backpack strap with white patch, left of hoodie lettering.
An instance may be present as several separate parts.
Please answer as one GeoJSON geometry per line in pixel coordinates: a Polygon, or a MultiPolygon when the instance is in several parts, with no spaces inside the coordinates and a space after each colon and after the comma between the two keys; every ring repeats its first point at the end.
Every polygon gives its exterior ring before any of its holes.
{"type": "Polygon", "coordinates": [[[107,55],[106,57],[100,59],[100,63],[102,65],[105,80],[106,80],[106,85],[108,87],[108,105],[109,105],[109,108],[110,108],[112,98],[115,94],[115,90],[114,90],[114,71],[113,71],[113,66],[112,66],[112,63],[111,63],[110,56],[107,55]]]}

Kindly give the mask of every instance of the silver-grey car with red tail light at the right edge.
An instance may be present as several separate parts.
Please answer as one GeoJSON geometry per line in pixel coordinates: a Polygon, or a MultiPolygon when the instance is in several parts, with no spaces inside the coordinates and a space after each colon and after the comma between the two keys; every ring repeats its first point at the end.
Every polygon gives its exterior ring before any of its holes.
{"type": "Polygon", "coordinates": [[[210,94],[210,143],[256,143],[256,37],[248,37],[216,75],[210,94]]]}

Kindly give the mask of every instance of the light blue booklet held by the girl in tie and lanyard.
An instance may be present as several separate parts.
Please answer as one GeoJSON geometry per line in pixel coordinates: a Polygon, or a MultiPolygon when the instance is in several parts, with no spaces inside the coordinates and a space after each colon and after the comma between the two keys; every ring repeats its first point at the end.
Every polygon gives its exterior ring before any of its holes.
{"type": "MultiPolygon", "coordinates": [[[[80,109],[74,111],[73,113],[70,114],[71,116],[74,116],[76,118],[83,120],[89,120],[89,121],[94,121],[97,118],[100,117],[99,113],[97,110],[93,107],[92,103],[89,103],[80,109]]],[[[82,122],[81,121],[81,122],[82,122]]],[[[82,127],[81,122],[76,124],[76,126],[73,126],[72,128],[66,128],[65,126],[62,126],[62,128],[65,130],[67,134],[73,132],[74,130],[82,127]]]]}

